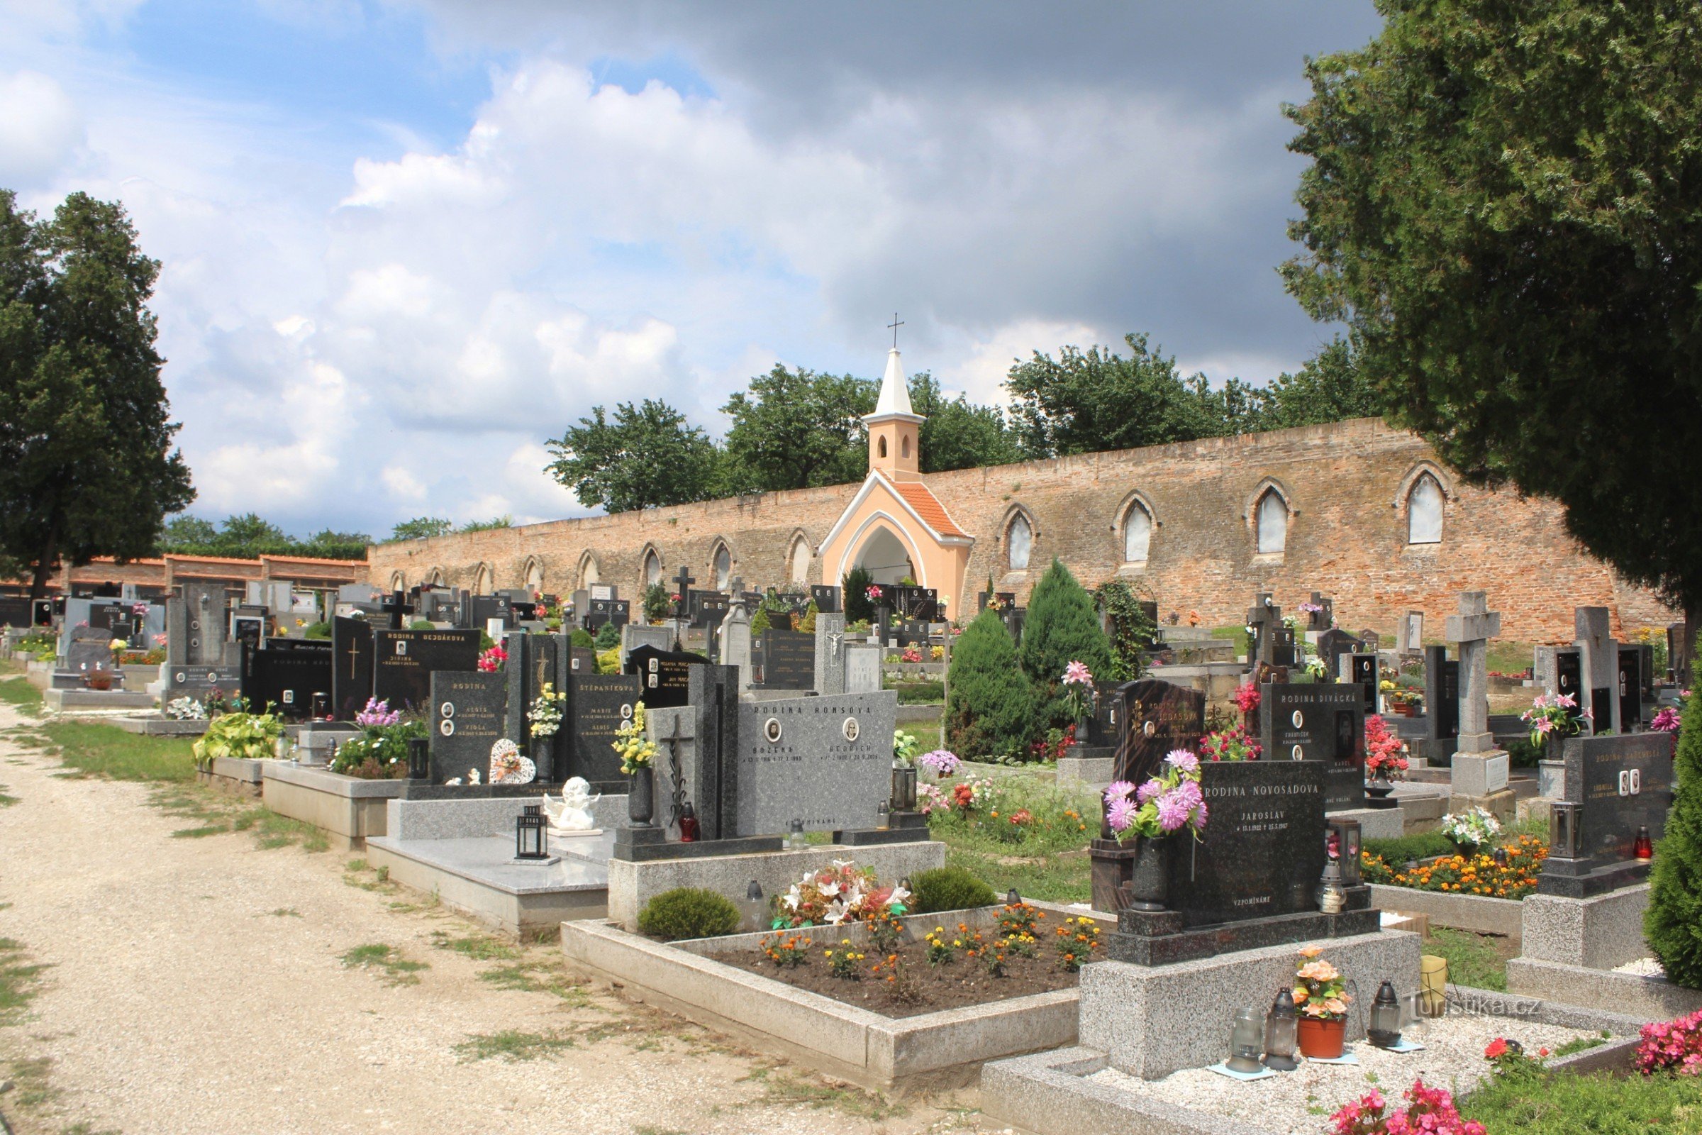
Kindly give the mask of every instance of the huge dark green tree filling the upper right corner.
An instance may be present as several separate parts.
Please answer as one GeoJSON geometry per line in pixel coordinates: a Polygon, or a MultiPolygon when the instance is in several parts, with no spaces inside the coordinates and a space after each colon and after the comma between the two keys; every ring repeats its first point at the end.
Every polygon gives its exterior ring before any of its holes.
{"type": "MultiPolygon", "coordinates": [[[[1702,7],[1380,0],[1307,65],[1283,265],[1394,420],[1702,611],[1702,7]],[[1695,444],[1693,444],[1695,442],[1695,444]]],[[[1690,642],[1690,635],[1687,635],[1690,642]]]]}

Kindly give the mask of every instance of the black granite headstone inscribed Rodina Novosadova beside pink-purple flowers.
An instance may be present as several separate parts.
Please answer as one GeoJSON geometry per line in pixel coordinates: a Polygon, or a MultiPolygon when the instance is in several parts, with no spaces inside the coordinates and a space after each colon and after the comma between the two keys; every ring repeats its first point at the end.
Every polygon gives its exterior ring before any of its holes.
{"type": "Polygon", "coordinates": [[[1326,778],[1317,761],[1202,764],[1205,836],[1200,842],[1181,834],[1164,841],[1166,905],[1183,915],[1185,926],[1316,910],[1326,858],[1326,778]]]}

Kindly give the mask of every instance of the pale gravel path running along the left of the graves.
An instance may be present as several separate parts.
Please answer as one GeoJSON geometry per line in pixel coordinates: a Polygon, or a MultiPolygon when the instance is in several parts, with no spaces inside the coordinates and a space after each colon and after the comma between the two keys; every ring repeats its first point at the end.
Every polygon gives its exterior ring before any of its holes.
{"type": "MultiPolygon", "coordinates": [[[[0,706],[0,728],[19,721],[0,706]]],[[[20,1135],[989,1130],[922,1103],[870,1118],[860,1092],[643,1007],[494,987],[478,975],[497,963],[434,944],[471,924],[390,909],[408,895],[349,885],[351,856],[174,839],[192,822],[150,807],[148,786],[54,767],[0,733],[0,786],[17,798],[0,807],[0,938],[51,967],[27,1018],[0,1028],[0,1079],[19,1081],[0,1109],[20,1135]],[[391,985],[340,961],[378,943],[429,968],[391,985]],[[456,1052],[504,1029],[572,1047],[456,1052]],[[56,1096],[26,1109],[17,1062],[44,1057],[56,1096]]]]}

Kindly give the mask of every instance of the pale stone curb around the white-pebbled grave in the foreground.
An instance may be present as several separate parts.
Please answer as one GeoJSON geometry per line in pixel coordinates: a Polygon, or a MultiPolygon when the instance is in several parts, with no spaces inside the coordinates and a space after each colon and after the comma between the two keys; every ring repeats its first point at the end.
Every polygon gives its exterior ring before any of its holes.
{"type": "MultiPolygon", "coordinates": [[[[1619,1040],[1549,1060],[1571,1072],[1627,1070],[1641,1019],[1576,1004],[1528,1002],[1513,994],[1450,987],[1484,1016],[1537,1018],[1576,1029],[1607,1029],[1619,1040]]],[[[1035,1135],[1282,1135],[1215,1113],[1123,1092],[1086,1077],[1111,1067],[1096,1048],[1059,1048],[989,1062],[980,1070],[980,1106],[989,1116],[1035,1135]]]]}

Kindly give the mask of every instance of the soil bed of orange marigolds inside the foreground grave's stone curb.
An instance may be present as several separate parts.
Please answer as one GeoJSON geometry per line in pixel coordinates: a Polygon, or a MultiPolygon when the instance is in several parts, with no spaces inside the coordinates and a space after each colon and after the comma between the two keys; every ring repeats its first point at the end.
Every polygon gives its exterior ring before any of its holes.
{"type": "Polygon", "coordinates": [[[757,948],[720,955],[727,965],[888,1018],[982,1006],[1074,989],[1106,929],[1084,915],[1048,915],[1031,904],[997,907],[975,927],[926,917],[860,924],[841,938],[774,931],[757,948]]]}

